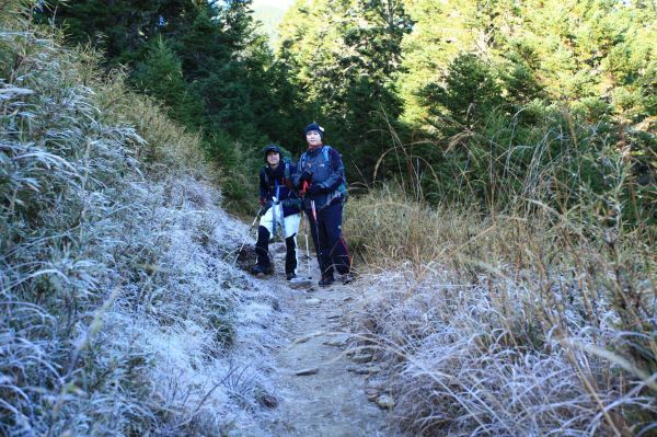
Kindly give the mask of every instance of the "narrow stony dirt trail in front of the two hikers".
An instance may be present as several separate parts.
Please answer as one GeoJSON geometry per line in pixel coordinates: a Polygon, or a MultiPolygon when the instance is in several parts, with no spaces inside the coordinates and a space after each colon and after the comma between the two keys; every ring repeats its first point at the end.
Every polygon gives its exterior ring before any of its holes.
{"type": "MultiPolygon", "coordinates": [[[[285,253],[274,249],[280,269],[285,253]]],[[[265,279],[276,281],[289,296],[280,299],[287,314],[287,338],[274,350],[278,405],[264,426],[276,436],[389,436],[385,411],[368,401],[366,376],[355,371],[366,372],[372,365],[356,364],[345,350],[348,326],[343,315],[358,281],[348,286],[336,281],[320,288],[315,264],[311,260],[312,283],[302,287],[288,287],[280,272],[265,279]],[[297,375],[302,370],[312,375],[297,375]]],[[[307,277],[306,261],[300,267],[298,271],[307,277]]]]}

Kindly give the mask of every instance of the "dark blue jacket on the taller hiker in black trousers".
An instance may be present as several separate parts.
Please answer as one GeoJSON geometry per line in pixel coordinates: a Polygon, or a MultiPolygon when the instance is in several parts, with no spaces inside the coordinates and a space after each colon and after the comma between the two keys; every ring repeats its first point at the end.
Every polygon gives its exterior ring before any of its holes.
{"type": "Polygon", "coordinates": [[[299,176],[303,170],[312,173],[311,186],[314,188],[304,196],[304,208],[310,209],[310,202],[314,200],[315,209],[322,209],[325,206],[342,202],[339,186],[345,182],[345,166],[342,156],[334,148],[328,148],[328,162],[324,159],[322,149],[326,146],[315,149],[308,149],[299,158],[297,164],[298,172],[292,174],[295,186],[300,188],[299,176]],[[306,168],[302,169],[302,165],[306,168]]]}

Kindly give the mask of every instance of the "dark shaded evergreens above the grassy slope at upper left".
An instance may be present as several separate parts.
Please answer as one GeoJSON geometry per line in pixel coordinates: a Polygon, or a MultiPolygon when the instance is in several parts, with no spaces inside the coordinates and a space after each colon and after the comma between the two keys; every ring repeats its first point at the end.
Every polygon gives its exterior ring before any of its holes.
{"type": "Polygon", "coordinates": [[[107,68],[127,66],[135,89],[201,133],[204,150],[230,181],[228,204],[255,207],[260,149],[300,128],[287,79],[255,32],[251,1],[54,1],[37,19],[62,25],[71,44],[102,49],[107,68]]]}

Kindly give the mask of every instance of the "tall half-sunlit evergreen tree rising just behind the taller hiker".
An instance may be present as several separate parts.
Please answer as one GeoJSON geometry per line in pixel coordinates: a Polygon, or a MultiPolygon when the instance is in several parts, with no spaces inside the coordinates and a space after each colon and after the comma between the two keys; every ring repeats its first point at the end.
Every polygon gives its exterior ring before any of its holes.
{"type": "Polygon", "coordinates": [[[411,25],[400,1],[301,1],[284,21],[279,62],[345,157],[350,181],[371,182],[389,125],[401,128],[394,78],[411,25]]]}

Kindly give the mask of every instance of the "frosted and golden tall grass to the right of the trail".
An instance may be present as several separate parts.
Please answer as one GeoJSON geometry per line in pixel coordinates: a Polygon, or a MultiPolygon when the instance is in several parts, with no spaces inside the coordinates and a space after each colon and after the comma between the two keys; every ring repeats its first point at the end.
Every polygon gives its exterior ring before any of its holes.
{"type": "Polygon", "coordinates": [[[385,186],[349,200],[345,222],[365,291],[354,323],[380,346],[393,423],[426,436],[655,432],[654,229],[586,203],[488,214],[413,197],[385,186]]]}

